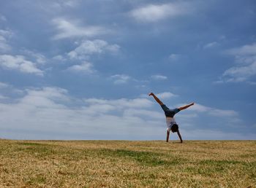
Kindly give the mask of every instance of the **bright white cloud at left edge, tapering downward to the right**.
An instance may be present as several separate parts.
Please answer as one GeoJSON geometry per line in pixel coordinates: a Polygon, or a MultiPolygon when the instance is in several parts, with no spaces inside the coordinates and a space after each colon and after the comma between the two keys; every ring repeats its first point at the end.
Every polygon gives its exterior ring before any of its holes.
{"type": "Polygon", "coordinates": [[[26,60],[23,55],[0,55],[0,66],[3,68],[17,70],[23,73],[43,75],[43,71],[35,66],[29,60],[26,60]]]}

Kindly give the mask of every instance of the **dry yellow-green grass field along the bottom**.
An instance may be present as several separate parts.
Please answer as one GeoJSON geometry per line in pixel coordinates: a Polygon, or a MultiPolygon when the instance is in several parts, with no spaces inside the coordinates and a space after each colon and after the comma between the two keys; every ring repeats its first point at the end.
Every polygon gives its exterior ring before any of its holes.
{"type": "Polygon", "coordinates": [[[0,187],[256,187],[256,141],[0,140],[0,187]]]}

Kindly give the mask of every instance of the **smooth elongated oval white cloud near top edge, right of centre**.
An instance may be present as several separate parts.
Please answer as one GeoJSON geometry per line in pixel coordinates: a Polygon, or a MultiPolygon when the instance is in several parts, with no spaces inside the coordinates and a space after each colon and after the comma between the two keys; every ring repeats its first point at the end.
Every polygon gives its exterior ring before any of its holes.
{"type": "Polygon", "coordinates": [[[135,20],[141,22],[157,22],[167,17],[176,17],[185,15],[189,12],[188,4],[170,3],[170,4],[148,4],[144,7],[133,9],[129,14],[135,20]]]}

